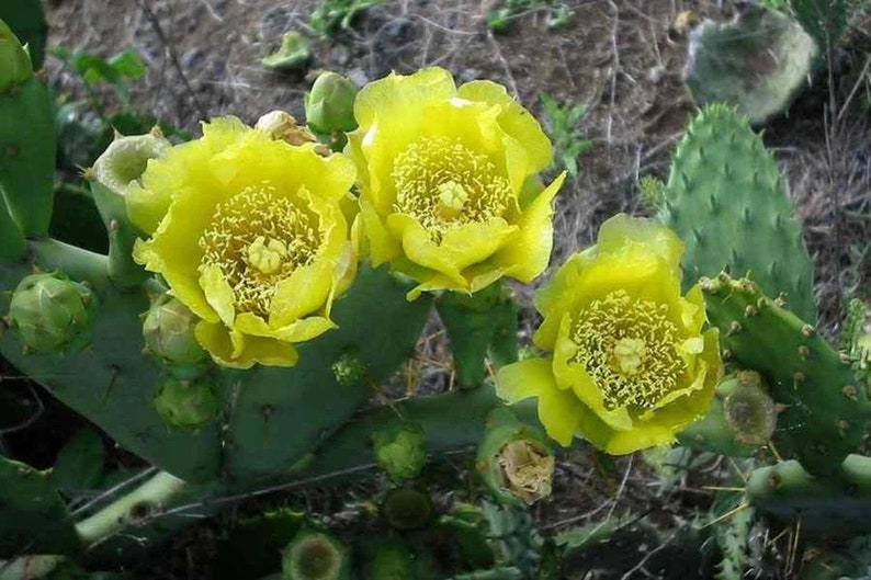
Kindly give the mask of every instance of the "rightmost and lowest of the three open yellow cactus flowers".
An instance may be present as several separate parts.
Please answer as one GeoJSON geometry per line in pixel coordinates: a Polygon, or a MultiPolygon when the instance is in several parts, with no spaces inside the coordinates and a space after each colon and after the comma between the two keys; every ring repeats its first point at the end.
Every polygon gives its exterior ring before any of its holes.
{"type": "Polygon", "coordinates": [[[671,443],[708,410],[723,375],[719,333],[701,288],[680,293],[677,236],[618,215],[535,296],[533,341],[551,353],[502,367],[508,402],[538,397],[539,419],[563,445],[579,435],[611,454],[671,443]]]}

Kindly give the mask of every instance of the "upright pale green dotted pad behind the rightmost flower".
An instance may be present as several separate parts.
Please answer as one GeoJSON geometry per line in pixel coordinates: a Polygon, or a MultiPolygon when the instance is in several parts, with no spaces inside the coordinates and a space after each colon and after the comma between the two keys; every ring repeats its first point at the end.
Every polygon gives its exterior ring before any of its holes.
{"type": "Polygon", "coordinates": [[[685,289],[724,269],[816,323],[813,265],[777,163],[726,105],[706,106],[677,147],[659,218],[686,246],[685,289]]]}

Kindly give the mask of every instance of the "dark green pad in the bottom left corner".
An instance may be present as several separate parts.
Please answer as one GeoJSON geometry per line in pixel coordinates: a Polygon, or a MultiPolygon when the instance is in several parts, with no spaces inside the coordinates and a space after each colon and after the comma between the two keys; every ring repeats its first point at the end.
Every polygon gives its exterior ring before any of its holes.
{"type": "Polygon", "coordinates": [[[0,455],[0,558],[75,554],[79,544],[48,474],[0,455]]]}

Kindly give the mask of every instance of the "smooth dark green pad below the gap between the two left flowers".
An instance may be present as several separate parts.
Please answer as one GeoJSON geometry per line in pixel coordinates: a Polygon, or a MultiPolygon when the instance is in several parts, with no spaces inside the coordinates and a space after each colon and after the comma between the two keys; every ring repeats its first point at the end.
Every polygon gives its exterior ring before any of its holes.
{"type": "Polygon", "coordinates": [[[336,302],[339,326],[298,345],[292,368],[256,367],[222,373],[230,401],[225,450],[226,469],[235,477],[263,477],[289,469],[342,425],[411,354],[431,303],[405,299],[410,284],[386,269],[361,264],[354,284],[336,302]],[[354,352],[367,379],[342,385],[332,366],[354,352]]]}

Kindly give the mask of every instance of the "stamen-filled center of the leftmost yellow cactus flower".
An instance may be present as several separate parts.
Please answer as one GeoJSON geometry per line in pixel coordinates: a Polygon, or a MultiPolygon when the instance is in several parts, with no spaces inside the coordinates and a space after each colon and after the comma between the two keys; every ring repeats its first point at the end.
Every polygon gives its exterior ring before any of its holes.
{"type": "Polygon", "coordinates": [[[279,282],[308,265],[321,243],[309,209],[263,185],[222,203],[200,237],[200,269],[217,264],[233,287],[236,312],[269,317],[279,282]]]}

